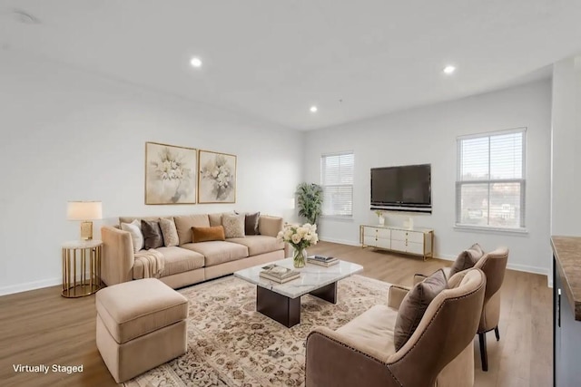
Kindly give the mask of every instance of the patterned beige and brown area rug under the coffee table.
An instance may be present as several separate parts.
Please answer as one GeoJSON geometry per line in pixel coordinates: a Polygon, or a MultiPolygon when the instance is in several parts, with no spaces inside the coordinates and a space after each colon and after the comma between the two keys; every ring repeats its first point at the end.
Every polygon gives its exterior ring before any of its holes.
{"type": "Polygon", "coordinates": [[[256,312],[256,285],[223,277],[179,292],[190,300],[188,352],[124,383],[127,387],[302,386],[305,340],[314,326],[337,329],[387,302],[389,284],[350,276],[338,303],[300,300],[300,324],[287,328],[256,312]]]}

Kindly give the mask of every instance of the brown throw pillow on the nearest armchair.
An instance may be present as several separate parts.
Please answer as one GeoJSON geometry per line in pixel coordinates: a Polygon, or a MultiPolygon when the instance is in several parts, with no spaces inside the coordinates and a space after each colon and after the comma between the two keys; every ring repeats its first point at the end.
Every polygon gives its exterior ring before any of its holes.
{"type": "Polygon", "coordinates": [[[401,305],[399,305],[393,332],[393,343],[396,346],[396,351],[408,343],[409,337],[418,328],[429,303],[446,288],[448,288],[448,280],[444,271],[439,269],[436,273],[416,284],[403,298],[401,305]]]}

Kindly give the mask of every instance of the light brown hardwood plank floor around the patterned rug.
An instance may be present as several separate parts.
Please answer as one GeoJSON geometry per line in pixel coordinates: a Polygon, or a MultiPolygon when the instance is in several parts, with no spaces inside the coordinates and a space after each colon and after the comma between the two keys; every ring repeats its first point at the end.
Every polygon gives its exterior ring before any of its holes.
{"type": "MultiPolygon", "coordinates": [[[[369,248],[320,242],[310,254],[337,256],[364,266],[363,276],[412,285],[414,273],[431,274],[450,262],[422,261],[369,248]]],[[[475,340],[476,386],[552,384],[552,298],[547,277],[507,270],[502,287],[500,341],[487,334],[488,372],[480,369],[475,340]]],[[[94,295],[66,299],[59,286],[0,297],[0,385],[113,386],[95,346],[94,295]],[[13,364],[83,364],[76,374],[15,372],[13,364]]]]}

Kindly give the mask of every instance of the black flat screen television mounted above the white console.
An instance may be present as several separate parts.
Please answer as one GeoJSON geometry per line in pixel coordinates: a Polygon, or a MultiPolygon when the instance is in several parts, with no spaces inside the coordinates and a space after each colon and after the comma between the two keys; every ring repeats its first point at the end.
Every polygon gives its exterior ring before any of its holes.
{"type": "Polygon", "coordinates": [[[431,165],[372,168],[371,209],[431,212],[431,165]]]}

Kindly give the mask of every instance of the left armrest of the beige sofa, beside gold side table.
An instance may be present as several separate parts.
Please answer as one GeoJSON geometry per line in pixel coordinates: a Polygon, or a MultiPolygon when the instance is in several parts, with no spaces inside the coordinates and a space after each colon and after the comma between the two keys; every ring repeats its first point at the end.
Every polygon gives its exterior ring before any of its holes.
{"type": "Polygon", "coordinates": [[[133,241],[127,231],[111,226],[101,227],[103,256],[101,279],[110,286],[133,280],[133,241]]]}

